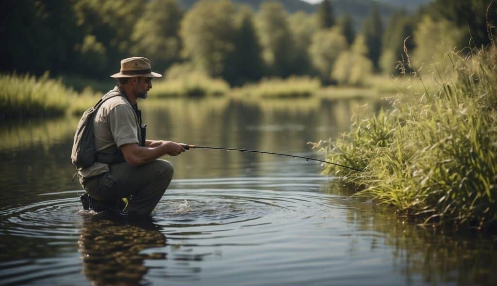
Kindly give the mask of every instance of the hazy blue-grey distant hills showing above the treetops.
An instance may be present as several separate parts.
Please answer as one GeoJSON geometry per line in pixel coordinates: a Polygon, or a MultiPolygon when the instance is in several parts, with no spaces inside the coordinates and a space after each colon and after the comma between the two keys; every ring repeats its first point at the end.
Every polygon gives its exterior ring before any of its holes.
{"type": "MultiPolygon", "coordinates": [[[[179,0],[184,9],[189,9],[191,6],[195,4],[198,0],[179,0]]],[[[244,4],[252,7],[252,9],[257,10],[259,5],[262,2],[267,2],[268,0],[231,0],[236,4],[244,4]]],[[[296,11],[304,11],[307,13],[315,13],[318,11],[319,4],[310,4],[308,2],[304,2],[302,0],[271,0],[274,2],[281,2],[285,9],[289,13],[294,13],[296,11]]],[[[396,0],[383,0],[375,1],[375,0],[332,0],[331,4],[333,6],[333,10],[335,16],[340,17],[345,14],[348,14],[352,17],[354,22],[354,26],[356,29],[360,29],[362,20],[368,16],[371,12],[371,9],[376,5],[380,12],[381,17],[383,18],[384,24],[387,23],[388,18],[392,13],[398,9],[398,6],[394,6],[391,3],[385,2],[395,2],[396,0]]],[[[407,1],[410,0],[401,0],[407,1]]],[[[426,0],[412,0],[412,1],[426,1],[426,0]]]]}

